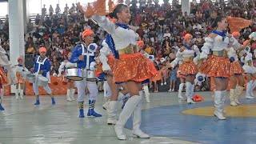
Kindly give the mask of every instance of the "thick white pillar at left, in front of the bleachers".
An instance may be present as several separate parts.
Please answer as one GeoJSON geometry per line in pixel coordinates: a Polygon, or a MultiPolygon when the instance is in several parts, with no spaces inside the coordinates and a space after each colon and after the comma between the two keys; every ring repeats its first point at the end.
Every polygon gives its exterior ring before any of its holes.
{"type": "MultiPolygon", "coordinates": [[[[17,65],[18,58],[25,60],[23,0],[9,0],[10,62],[17,65]]],[[[11,93],[14,93],[14,86],[11,93]]]]}

